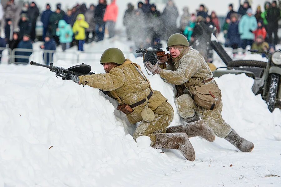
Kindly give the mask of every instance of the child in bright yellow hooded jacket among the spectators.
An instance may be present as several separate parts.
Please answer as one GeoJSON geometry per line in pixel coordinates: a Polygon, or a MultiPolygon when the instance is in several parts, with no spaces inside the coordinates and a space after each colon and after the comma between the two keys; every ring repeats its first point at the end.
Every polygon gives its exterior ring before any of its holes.
{"type": "Polygon", "coordinates": [[[72,27],[74,38],[78,40],[78,50],[84,51],[83,46],[86,39],[86,29],[89,28],[89,24],[85,21],[83,14],[78,14],[76,21],[72,27]]]}

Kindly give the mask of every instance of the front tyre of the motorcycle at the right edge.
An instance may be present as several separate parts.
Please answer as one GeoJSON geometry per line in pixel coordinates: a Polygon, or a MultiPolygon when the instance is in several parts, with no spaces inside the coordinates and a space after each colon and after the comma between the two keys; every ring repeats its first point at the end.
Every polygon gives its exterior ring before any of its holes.
{"type": "Polygon", "coordinates": [[[274,110],[274,103],[276,101],[278,84],[279,84],[279,75],[270,74],[270,84],[269,84],[268,99],[267,99],[267,105],[270,112],[273,112],[274,110]]]}

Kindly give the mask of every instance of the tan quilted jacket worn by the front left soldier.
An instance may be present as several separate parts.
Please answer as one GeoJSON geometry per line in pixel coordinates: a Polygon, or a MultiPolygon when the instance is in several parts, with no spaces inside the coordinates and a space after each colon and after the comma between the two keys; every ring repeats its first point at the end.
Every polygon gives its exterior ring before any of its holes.
{"type": "MultiPolygon", "coordinates": [[[[135,65],[131,64],[129,59],[126,59],[124,64],[112,68],[109,73],[79,76],[79,79],[83,85],[89,85],[110,93],[114,90],[123,104],[137,103],[151,92],[148,81],[136,69],[135,65]]],[[[148,101],[148,107],[155,110],[167,99],[155,90],[148,101]]],[[[142,120],[141,111],[145,105],[146,103],[143,103],[134,107],[134,112],[126,115],[130,123],[133,124],[142,120]]]]}

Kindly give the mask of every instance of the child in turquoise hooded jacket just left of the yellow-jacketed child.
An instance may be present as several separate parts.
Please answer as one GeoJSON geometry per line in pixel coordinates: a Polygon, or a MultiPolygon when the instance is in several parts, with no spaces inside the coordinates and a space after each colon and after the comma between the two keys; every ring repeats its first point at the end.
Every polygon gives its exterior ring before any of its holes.
{"type": "Polygon", "coordinates": [[[67,24],[66,21],[60,20],[56,35],[59,36],[60,43],[62,45],[62,50],[70,48],[70,43],[73,40],[73,31],[70,24],[67,24]]]}

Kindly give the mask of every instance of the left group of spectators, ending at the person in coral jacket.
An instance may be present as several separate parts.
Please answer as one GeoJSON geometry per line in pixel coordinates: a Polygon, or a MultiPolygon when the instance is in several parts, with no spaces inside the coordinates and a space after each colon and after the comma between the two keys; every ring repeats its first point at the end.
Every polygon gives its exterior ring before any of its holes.
{"type": "MultiPolygon", "coordinates": [[[[37,18],[40,15],[39,9],[35,2],[25,2],[20,12],[18,9],[14,0],[9,0],[4,6],[2,24],[5,25],[5,39],[0,40],[0,47],[8,44],[12,50],[14,48],[32,49],[32,43],[37,41],[35,29],[37,18]]],[[[106,26],[109,37],[115,35],[117,15],[118,7],[115,0],[111,0],[110,4],[107,4],[106,0],[99,0],[97,5],[91,4],[89,8],[85,3],[77,4],[71,9],[67,9],[66,12],[62,10],[61,3],[56,5],[54,12],[48,3],[41,14],[44,45],[41,45],[40,48],[56,50],[56,46],[61,45],[64,51],[77,45],[78,50],[83,51],[85,42],[104,39],[106,26]]],[[[16,55],[29,56],[31,53],[17,51],[16,55]]],[[[48,64],[49,53],[43,56],[47,58],[48,64]]],[[[28,59],[17,58],[16,61],[27,63],[28,59]]]]}

